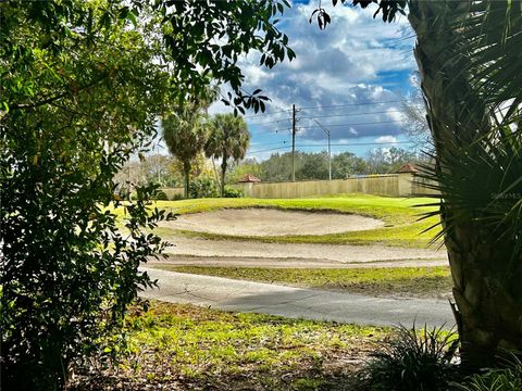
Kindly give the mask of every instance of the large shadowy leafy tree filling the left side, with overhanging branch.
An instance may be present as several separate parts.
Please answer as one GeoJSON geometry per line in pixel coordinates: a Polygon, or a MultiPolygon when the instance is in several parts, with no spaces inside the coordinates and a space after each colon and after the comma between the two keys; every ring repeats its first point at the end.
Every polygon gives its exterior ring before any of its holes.
{"type": "Polygon", "coordinates": [[[139,263],[162,249],[140,227],[163,214],[148,211],[153,187],[138,188],[123,235],[113,177],[164,103],[198,97],[209,75],[236,110],[264,109],[237,61],[295,56],[275,26],[285,4],[0,3],[2,390],[61,389],[86,357],[116,354],[125,308],[150,285],[139,263]]]}

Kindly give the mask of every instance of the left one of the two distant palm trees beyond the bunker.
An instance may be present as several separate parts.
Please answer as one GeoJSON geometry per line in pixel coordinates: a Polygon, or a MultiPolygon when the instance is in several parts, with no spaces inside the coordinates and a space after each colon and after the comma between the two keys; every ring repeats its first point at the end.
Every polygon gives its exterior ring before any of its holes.
{"type": "Polygon", "coordinates": [[[185,198],[189,198],[192,161],[201,153],[208,138],[208,126],[197,103],[185,103],[161,121],[169,151],[183,164],[185,198]]]}

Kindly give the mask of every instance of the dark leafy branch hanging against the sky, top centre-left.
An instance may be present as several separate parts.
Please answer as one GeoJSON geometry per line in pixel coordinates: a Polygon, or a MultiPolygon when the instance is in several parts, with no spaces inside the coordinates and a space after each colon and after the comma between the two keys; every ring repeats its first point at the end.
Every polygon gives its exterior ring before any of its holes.
{"type": "Polygon", "coordinates": [[[289,7],[287,0],[188,0],[154,5],[162,15],[164,43],[175,64],[173,84],[201,91],[212,77],[231,86],[235,98],[224,98],[226,104],[241,113],[245,109],[264,110],[266,97],[241,89],[245,76],[238,60],[258,51],[260,65],[272,68],[296,56],[288,47],[288,37],[277,28],[278,17],[289,7]]]}

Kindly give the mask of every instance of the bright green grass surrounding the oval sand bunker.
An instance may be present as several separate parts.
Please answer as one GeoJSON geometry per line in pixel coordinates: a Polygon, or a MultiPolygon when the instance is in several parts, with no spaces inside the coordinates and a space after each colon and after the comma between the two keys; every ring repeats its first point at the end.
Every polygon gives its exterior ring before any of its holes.
{"type": "MultiPolygon", "coordinates": [[[[389,198],[368,194],[340,194],[303,199],[198,199],[181,201],[158,201],[157,206],[178,214],[211,212],[221,209],[273,207],[294,211],[316,211],[352,213],[384,220],[385,227],[343,234],[320,236],[295,235],[284,237],[238,237],[216,234],[181,231],[170,228],[158,228],[157,232],[165,239],[176,235],[201,237],[212,240],[254,240],[264,242],[291,243],[332,243],[332,244],[386,244],[396,247],[425,248],[435,236],[437,229],[423,230],[436,225],[438,217],[430,217],[419,222],[433,206],[415,207],[419,204],[433,203],[425,198],[389,198]]],[[[123,215],[123,211],[117,211],[123,215]]]]}

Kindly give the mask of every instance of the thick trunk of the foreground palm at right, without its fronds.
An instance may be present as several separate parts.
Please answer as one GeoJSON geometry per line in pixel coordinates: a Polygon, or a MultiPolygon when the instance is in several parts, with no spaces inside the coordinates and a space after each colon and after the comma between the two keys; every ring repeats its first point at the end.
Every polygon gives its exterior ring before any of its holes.
{"type": "MultiPolygon", "coordinates": [[[[455,59],[451,42],[458,34],[448,21],[464,15],[468,7],[468,2],[459,1],[409,2],[409,21],[418,37],[415,58],[437,156],[436,171],[449,175],[451,167],[444,165],[448,143],[469,146],[489,130],[487,110],[462,74],[462,64],[448,61],[455,59]],[[470,117],[471,108],[473,112],[477,108],[483,111],[482,117],[470,117]]],[[[444,192],[442,199],[445,226],[459,212],[459,205],[448,202],[444,192]]],[[[445,236],[461,357],[470,370],[493,364],[500,348],[522,350],[520,274],[507,276],[501,269],[514,243],[495,239],[493,228],[474,223],[471,217],[445,236]]]]}

